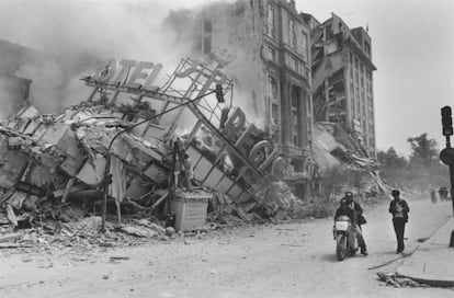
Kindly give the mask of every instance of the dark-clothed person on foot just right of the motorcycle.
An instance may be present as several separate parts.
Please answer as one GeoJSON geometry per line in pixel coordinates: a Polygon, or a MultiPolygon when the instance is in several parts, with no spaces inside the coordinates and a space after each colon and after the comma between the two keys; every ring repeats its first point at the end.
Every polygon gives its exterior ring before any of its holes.
{"type": "Polygon", "coordinates": [[[400,192],[398,190],[394,190],[391,195],[394,199],[389,204],[389,213],[393,215],[393,226],[397,239],[396,253],[401,253],[405,249],[405,225],[408,222],[408,213],[410,211],[410,208],[408,207],[407,202],[400,198],[400,192]]]}

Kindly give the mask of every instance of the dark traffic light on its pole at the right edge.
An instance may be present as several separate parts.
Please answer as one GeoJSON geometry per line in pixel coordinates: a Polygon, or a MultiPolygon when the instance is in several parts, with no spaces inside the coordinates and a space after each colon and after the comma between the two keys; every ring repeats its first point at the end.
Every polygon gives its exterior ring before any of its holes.
{"type": "MultiPolygon", "coordinates": [[[[443,136],[446,137],[446,148],[440,152],[440,159],[443,163],[450,167],[450,181],[451,181],[451,202],[453,204],[453,218],[454,218],[454,149],[451,148],[451,136],[453,135],[453,118],[451,113],[451,106],[446,105],[441,108],[443,136]]],[[[450,248],[454,248],[454,230],[451,231],[450,248]]]]}

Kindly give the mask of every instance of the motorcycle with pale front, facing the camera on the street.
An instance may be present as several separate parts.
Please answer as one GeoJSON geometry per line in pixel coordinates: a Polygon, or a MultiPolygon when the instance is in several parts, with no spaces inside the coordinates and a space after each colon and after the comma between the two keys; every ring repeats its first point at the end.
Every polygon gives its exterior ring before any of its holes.
{"type": "Polygon", "coordinates": [[[356,232],[348,216],[341,215],[334,220],[333,237],[336,240],[336,254],[339,261],[353,256],[357,252],[356,232]]]}

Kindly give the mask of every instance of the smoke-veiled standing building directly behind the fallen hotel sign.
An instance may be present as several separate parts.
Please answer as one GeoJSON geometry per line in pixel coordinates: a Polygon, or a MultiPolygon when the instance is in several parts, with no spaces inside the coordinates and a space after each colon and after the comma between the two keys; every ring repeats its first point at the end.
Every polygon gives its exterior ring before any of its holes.
{"type": "MultiPolygon", "coordinates": [[[[173,26],[180,41],[192,39],[191,55],[225,59],[235,104],[266,133],[296,172],[305,172],[313,150],[310,30],[295,1],[217,2],[200,11],[173,12],[164,25],[173,26]]],[[[306,187],[297,188],[304,196],[306,187]]]]}

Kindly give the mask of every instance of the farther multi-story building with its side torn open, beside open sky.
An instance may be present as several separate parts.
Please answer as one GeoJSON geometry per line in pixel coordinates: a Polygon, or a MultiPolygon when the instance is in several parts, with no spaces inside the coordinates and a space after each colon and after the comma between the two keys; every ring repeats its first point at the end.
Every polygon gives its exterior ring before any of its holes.
{"type": "Polygon", "coordinates": [[[311,30],[313,100],[316,122],[342,124],[375,158],[372,43],[368,30],[350,30],[332,13],[324,23],[303,14],[311,30]]]}

